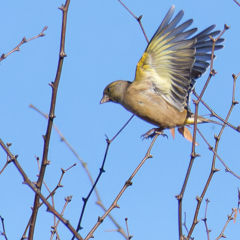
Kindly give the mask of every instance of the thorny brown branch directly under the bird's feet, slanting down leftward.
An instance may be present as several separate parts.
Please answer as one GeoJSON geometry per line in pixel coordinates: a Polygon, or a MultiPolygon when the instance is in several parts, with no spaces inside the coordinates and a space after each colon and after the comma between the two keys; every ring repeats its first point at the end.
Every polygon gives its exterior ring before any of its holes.
{"type": "Polygon", "coordinates": [[[151,149],[153,147],[154,142],[156,141],[157,137],[159,136],[160,133],[156,133],[155,137],[153,138],[148,151],[145,155],[145,157],[143,158],[143,160],[140,162],[140,164],[137,166],[137,168],[134,170],[134,172],[132,173],[132,175],[129,177],[129,179],[125,182],[123,188],[121,189],[121,191],[119,192],[119,194],[117,195],[117,197],[115,198],[115,200],[113,201],[112,205],[109,207],[109,209],[104,213],[104,215],[102,217],[98,217],[98,221],[95,224],[95,226],[92,228],[92,230],[88,233],[88,235],[86,236],[85,240],[88,240],[89,238],[93,237],[93,233],[96,231],[96,229],[99,227],[99,225],[103,222],[103,220],[107,217],[107,215],[114,209],[114,208],[119,208],[118,206],[118,200],[120,199],[120,197],[122,196],[122,194],[124,193],[124,191],[127,189],[127,187],[132,185],[132,179],[134,178],[134,176],[137,174],[138,170],[141,168],[141,166],[144,164],[144,162],[148,159],[148,158],[152,158],[153,156],[150,155],[151,149]]]}

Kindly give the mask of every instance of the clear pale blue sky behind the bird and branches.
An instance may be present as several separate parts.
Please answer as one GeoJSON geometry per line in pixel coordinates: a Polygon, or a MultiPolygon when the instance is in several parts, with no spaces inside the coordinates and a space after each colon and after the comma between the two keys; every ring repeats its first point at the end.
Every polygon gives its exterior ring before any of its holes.
{"type": "MultiPolygon", "coordinates": [[[[62,13],[57,9],[61,1],[4,1],[1,5],[0,22],[2,37],[0,52],[12,50],[23,37],[30,38],[48,26],[46,36],[21,46],[21,51],[13,53],[1,62],[0,89],[0,138],[11,142],[11,151],[19,155],[19,162],[31,181],[37,180],[35,156],[42,156],[43,139],[47,122],[36,111],[29,108],[33,104],[44,113],[49,112],[51,88],[48,83],[54,80],[60,42],[62,13]]],[[[203,99],[221,117],[225,118],[232,97],[232,74],[240,72],[239,49],[239,11],[232,0],[175,0],[175,1],[129,1],[124,3],[137,16],[143,15],[142,24],[150,39],[172,4],[175,13],[185,11],[183,21],[193,18],[192,27],[201,31],[217,24],[223,29],[226,23],[231,27],[224,34],[225,48],[217,52],[214,69],[218,74],[212,78],[203,99]]],[[[80,157],[87,162],[92,177],[99,172],[106,148],[104,134],[112,138],[130,118],[120,105],[113,103],[99,105],[102,91],[114,80],[133,80],[135,68],[143,51],[146,40],[137,21],[117,1],[71,1],[66,36],[66,54],[56,105],[54,123],[62,131],[80,157]]],[[[207,74],[198,80],[196,91],[199,93],[207,79],[207,74]]],[[[236,100],[239,101],[237,82],[236,100]]],[[[193,106],[192,106],[193,109],[193,106]]],[[[209,112],[200,107],[200,114],[209,112]]],[[[239,106],[235,106],[230,123],[240,125],[239,106]]],[[[105,170],[97,186],[104,205],[108,208],[116,195],[144,157],[150,141],[140,139],[152,126],[134,117],[124,131],[110,146],[105,170]]],[[[220,126],[203,124],[199,126],[211,145],[214,134],[220,126]]],[[[173,140],[170,132],[167,138],[159,137],[152,155],[133,179],[119,201],[120,209],[112,215],[125,228],[124,219],[129,220],[130,234],[134,239],[177,239],[177,201],[183,179],[190,160],[191,143],[176,133],[173,140]]],[[[225,163],[239,174],[240,135],[226,128],[219,145],[219,155],[225,163]]],[[[207,145],[197,136],[199,146],[196,152],[201,155],[194,162],[190,180],[183,199],[183,211],[187,213],[187,226],[190,228],[196,208],[195,197],[201,194],[210,173],[212,154],[207,145]]],[[[0,151],[1,165],[6,156],[0,151]]],[[[45,181],[53,189],[61,175],[61,167],[66,169],[77,162],[77,166],[64,176],[61,188],[55,194],[56,209],[60,212],[64,197],[73,195],[64,217],[73,226],[77,225],[82,207],[82,197],[86,197],[91,187],[89,179],[80,162],[66,145],[60,141],[56,131],[52,132],[49,160],[45,181]]],[[[206,193],[210,199],[208,226],[212,229],[211,239],[221,232],[227,214],[237,207],[237,187],[239,180],[225,172],[217,161],[216,173],[206,193]]],[[[0,176],[0,215],[5,219],[9,239],[19,239],[28,222],[33,204],[34,193],[22,184],[22,177],[13,164],[0,176]]],[[[43,193],[47,195],[45,188],[43,193]]],[[[85,211],[80,234],[84,237],[103,215],[96,204],[93,194],[85,211]]],[[[204,217],[205,201],[198,219],[204,217]]],[[[238,219],[237,219],[238,220],[238,219]]],[[[43,206],[39,212],[35,239],[48,239],[53,217],[43,206]]],[[[95,239],[123,239],[119,233],[105,232],[115,229],[106,219],[97,229],[95,239]]],[[[239,221],[230,222],[225,235],[236,239],[239,235],[239,221]]],[[[70,239],[71,233],[63,225],[59,226],[61,239],[70,239]]],[[[194,239],[207,239],[202,221],[196,226],[194,239]]]]}

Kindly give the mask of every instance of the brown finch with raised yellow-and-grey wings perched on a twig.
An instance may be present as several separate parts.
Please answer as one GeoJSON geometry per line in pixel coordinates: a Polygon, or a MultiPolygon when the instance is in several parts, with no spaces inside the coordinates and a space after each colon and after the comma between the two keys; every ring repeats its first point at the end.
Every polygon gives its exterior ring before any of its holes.
{"type": "MultiPolygon", "coordinates": [[[[165,129],[170,129],[174,137],[175,128],[178,128],[187,140],[192,141],[191,133],[185,127],[194,124],[194,114],[190,110],[191,93],[196,80],[210,66],[213,42],[209,36],[215,37],[221,31],[213,31],[216,25],[211,25],[192,36],[198,29],[186,29],[193,19],[178,26],[184,11],[172,19],[174,10],[172,5],[148,43],[137,64],[134,81],[110,83],[104,89],[100,103],[119,103],[140,119],[157,126],[142,135],[144,138],[165,129]]],[[[218,39],[215,50],[222,49],[224,41],[218,39]]],[[[197,117],[197,123],[205,122],[216,123],[197,117]]]]}

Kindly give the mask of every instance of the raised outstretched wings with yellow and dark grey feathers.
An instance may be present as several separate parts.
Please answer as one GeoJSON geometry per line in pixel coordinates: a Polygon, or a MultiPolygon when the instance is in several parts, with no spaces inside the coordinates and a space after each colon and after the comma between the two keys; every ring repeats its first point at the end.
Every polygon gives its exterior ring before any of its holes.
{"type": "MultiPolygon", "coordinates": [[[[213,25],[189,39],[197,28],[185,31],[192,24],[192,19],[177,27],[183,11],[170,22],[174,9],[173,5],[138,62],[135,81],[150,79],[156,94],[183,111],[188,105],[194,79],[209,67],[206,62],[211,59],[211,55],[206,53],[211,51],[212,46],[209,35],[215,36],[220,31],[209,33],[215,28],[213,25]]],[[[215,49],[222,47],[216,46],[215,49]]]]}

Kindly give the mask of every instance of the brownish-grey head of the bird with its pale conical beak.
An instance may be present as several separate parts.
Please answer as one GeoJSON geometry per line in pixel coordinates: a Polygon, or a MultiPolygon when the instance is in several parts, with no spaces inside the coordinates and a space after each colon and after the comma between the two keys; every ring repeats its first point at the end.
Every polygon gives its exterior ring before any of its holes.
{"type": "Polygon", "coordinates": [[[115,102],[121,103],[123,101],[124,93],[131,82],[118,80],[110,83],[103,91],[103,97],[100,101],[105,102],[115,102]]]}

